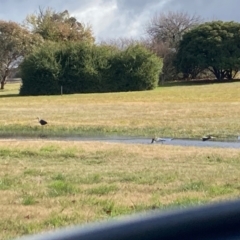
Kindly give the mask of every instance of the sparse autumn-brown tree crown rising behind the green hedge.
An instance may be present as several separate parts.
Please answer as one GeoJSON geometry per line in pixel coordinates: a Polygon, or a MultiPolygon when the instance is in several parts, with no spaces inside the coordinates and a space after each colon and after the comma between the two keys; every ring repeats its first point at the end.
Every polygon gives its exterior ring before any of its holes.
{"type": "Polygon", "coordinates": [[[91,27],[78,22],[67,10],[56,12],[50,8],[46,10],[39,8],[37,14],[27,16],[25,25],[45,40],[94,42],[91,27]]]}

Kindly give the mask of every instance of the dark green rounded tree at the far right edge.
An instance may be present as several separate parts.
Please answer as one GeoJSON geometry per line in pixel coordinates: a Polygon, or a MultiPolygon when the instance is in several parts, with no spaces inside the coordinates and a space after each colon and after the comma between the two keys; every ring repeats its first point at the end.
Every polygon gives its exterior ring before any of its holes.
{"type": "Polygon", "coordinates": [[[240,67],[240,23],[212,21],[184,34],[175,65],[184,74],[208,69],[217,80],[231,79],[240,67]]]}

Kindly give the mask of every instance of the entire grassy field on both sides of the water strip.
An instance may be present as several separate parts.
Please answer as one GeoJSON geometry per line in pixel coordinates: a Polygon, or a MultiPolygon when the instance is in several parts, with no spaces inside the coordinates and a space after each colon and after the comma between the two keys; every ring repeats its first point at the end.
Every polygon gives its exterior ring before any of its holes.
{"type": "MultiPolygon", "coordinates": [[[[0,135],[240,135],[239,83],[19,97],[0,92],[0,135]],[[36,117],[49,125],[42,129],[36,117]]],[[[239,197],[240,151],[0,140],[0,239],[239,197]]]]}

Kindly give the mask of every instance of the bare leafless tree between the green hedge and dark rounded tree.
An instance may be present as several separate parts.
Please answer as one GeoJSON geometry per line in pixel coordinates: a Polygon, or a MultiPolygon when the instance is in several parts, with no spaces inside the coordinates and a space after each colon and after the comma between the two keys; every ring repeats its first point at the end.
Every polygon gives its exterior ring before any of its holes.
{"type": "Polygon", "coordinates": [[[179,41],[187,31],[202,22],[200,16],[185,12],[167,12],[153,16],[146,26],[149,48],[163,58],[162,82],[177,77],[173,60],[179,41]]]}

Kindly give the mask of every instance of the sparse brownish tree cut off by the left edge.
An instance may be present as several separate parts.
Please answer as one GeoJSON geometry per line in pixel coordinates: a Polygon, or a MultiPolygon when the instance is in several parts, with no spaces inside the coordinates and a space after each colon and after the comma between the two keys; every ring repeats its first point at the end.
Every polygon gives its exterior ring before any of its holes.
{"type": "Polygon", "coordinates": [[[0,20],[0,88],[4,89],[12,68],[17,67],[23,57],[40,44],[42,38],[31,34],[19,24],[0,20]]]}

